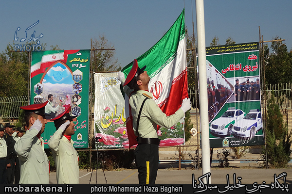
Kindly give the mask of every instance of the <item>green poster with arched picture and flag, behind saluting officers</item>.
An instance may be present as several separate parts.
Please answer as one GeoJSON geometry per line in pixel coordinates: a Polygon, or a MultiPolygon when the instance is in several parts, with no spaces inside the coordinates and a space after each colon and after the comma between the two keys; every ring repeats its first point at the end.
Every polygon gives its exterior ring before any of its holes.
{"type": "Polygon", "coordinates": [[[52,118],[71,106],[75,148],[88,147],[90,50],[47,50],[32,52],[30,104],[49,100],[48,123],[41,134],[45,148],[56,131],[52,118]]]}

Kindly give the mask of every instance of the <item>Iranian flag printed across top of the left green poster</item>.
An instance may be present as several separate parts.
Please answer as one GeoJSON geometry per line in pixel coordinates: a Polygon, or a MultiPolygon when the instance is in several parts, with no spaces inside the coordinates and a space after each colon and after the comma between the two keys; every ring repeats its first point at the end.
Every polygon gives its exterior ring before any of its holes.
{"type": "Polygon", "coordinates": [[[68,55],[78,51],[79,50],[46,50],[33,52],[34,60],[31,64],[31,78],[44,73],[46,68],[56,61],[61,61],[66,64],[68,55]]]}

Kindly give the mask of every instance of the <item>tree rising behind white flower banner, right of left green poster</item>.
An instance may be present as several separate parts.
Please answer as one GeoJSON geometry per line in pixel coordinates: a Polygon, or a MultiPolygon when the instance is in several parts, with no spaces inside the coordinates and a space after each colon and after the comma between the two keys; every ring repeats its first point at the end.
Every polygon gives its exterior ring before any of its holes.
{"type": "MultiPolygon", "coordinates": [[[[114,49],[105,35],[100,35],[99,40],[92,41],[94,49],[114,49]]],[[[122,69],[118,60],[114,59],[115,50],[95,50],[91,54],[91,65],[93,72],[99,71],[119,71],[122,69]]]]}

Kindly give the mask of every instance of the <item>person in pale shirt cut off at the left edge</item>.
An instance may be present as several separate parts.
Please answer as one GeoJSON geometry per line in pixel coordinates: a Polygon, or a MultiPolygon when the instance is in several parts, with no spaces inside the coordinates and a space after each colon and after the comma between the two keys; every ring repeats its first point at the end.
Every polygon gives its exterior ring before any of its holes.
{"type": "Polygon", "coordinates": [[[7,145],[3,136],[4,126],[0,124],[0,184],[7,183],[7,145]]]}

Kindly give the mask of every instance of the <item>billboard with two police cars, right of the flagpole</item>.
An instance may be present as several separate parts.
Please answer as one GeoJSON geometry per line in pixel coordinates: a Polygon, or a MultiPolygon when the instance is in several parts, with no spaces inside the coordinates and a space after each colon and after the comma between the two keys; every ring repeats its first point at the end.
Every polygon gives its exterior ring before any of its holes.
{"type": "Polygon", "coordinates": [[[264,144],[258,58],[258,42],[206,48],[210,147],[264,144]]]}

